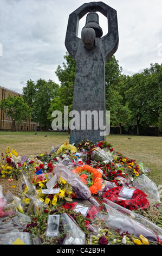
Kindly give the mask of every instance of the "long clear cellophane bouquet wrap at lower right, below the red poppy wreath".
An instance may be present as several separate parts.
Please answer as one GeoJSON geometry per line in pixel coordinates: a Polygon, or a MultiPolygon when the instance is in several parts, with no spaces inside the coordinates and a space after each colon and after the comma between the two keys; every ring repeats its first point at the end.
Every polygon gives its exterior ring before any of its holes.
{"type": "MultiPolygon", "coordinates": [[[[104,198],[102,202],[105,204],[108,216],[104,218],[105,225],[113,229],[120,229],[120,234],[128,232],[139,237],[140,234],[148,240],[158,242],[157,229],[161,234],[161,229],[140,215],[117,205],[110,200],[104,198]]],[[[103,216],[105,217],[105,216],[103,216]]],[[[161,240],[161,236],[159,239],[161,240]]]]}

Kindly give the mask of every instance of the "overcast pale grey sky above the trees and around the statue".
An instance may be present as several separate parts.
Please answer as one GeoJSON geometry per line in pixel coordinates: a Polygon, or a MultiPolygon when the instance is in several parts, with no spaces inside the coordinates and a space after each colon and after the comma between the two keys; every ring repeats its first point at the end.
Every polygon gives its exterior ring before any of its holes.
{"type": "MultiPolygon", "coordinates": [[[[0,86],[22,93],[29,79],[59,83],[69,14],[83,0],[0,0],[0,86]]],[[[118,15],[119,47],[115,53],[126,75],[162,62],[162,1],[105,0],[118,15]]],[[[103,35],[107,21],[100,17],[103,35]]],[[[80,20],[81,28],[86,16],[80,20]]]]}

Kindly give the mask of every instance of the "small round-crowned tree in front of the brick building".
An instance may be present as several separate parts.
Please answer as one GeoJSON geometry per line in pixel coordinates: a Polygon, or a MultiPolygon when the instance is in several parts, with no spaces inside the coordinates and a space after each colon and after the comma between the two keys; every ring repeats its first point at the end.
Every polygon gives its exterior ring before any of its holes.
{"type": "Polygon", "coordinates": [[[22,96],[9,95],[7,99],[1,100],[0,108],[12,119],[11,131],[16,131],[16,123],[20,125],[31,116],[31,110],[22,96]]]}

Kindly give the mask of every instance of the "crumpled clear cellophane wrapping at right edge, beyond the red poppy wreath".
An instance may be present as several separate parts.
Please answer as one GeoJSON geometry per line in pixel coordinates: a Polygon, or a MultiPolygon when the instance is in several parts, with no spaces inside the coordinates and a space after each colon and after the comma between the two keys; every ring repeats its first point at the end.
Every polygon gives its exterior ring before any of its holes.
{"type": "Polygon", "coordinates": [[[145,174],[138,176],[133,181],[132,187],[138,188],[147,194],[147,198],[150,202],[161,203],[157,185],[145,174]]]}

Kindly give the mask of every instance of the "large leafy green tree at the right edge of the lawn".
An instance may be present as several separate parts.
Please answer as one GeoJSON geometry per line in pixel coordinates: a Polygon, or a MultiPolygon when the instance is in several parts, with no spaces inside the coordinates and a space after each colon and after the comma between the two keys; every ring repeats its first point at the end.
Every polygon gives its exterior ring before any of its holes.
{"type": "Polygon", "coordinates": [[[131,110],[127,127],[136,125],[137,135],[140,135],[140,127],[160,124],[161,74],[161,65],[151,64],[151,68],[141,74],[127,77],[125,96],[131,110]]]}

